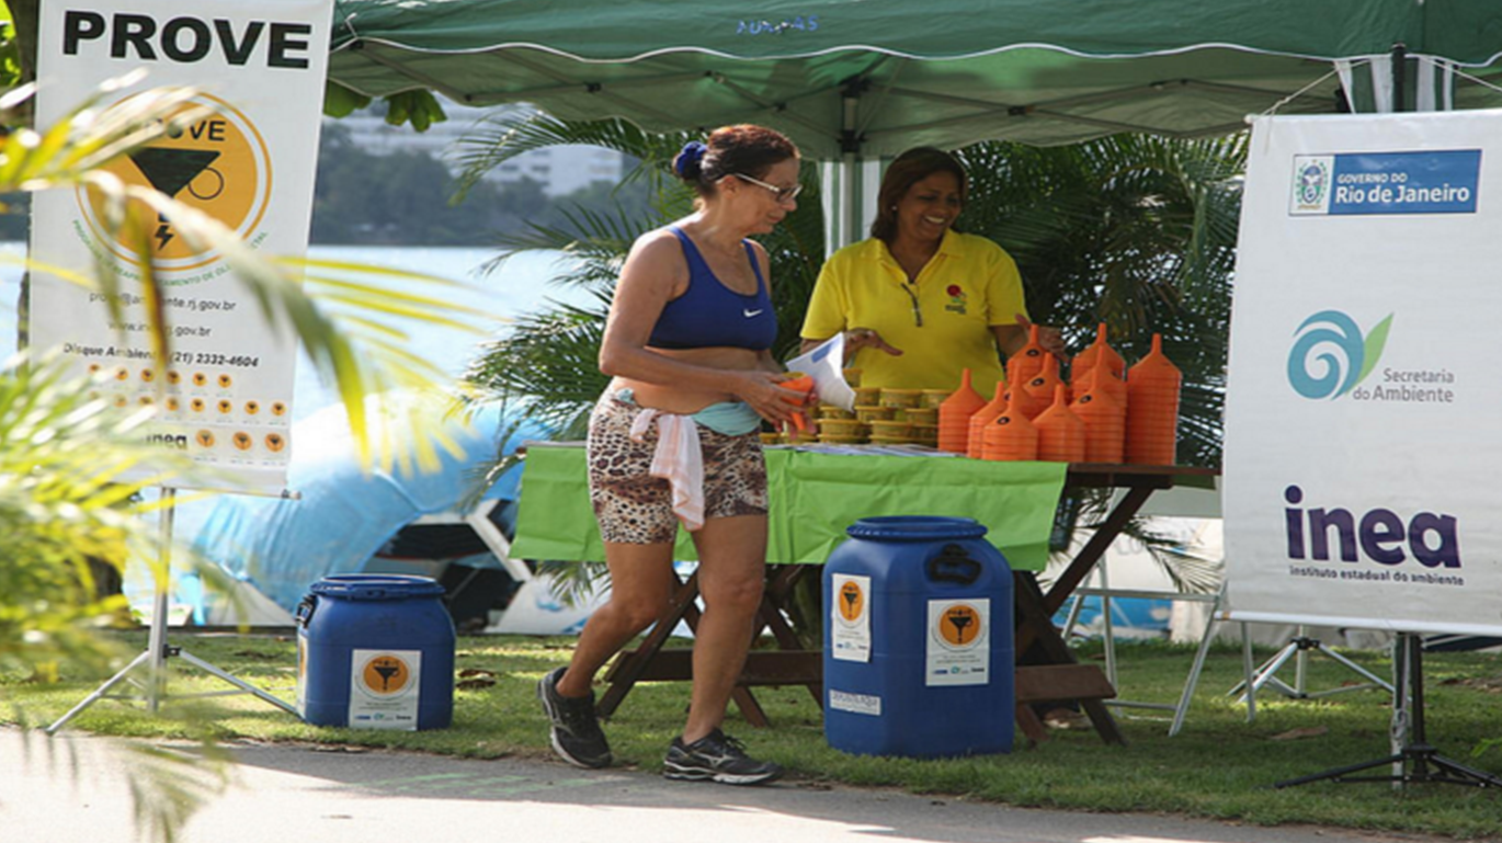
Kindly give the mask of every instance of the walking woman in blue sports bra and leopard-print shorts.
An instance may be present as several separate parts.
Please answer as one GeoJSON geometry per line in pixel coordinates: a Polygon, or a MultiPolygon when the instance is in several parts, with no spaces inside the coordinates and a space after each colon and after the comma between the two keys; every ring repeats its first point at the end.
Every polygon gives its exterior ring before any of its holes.
{"type": "Polygon", "coordinates": [[[798,207],[798,147],[762,126],[725,126],[673,162],[695,210],[631,248],[599,349],[613,376],[590,416],[589,488],[610,603],[595,610],[568,667],[538,684],[553,748],[605,766],[595,673],[668,603],[682,523],[698,548],[704,613],[694,636],[688,721],[668,745],[668,778],[759,784],[781,775],[721,732],[762,601],[766,464],[762,421],[789,421],[799,392],[772,358],[766,251],[749,240],[798,207]]]}

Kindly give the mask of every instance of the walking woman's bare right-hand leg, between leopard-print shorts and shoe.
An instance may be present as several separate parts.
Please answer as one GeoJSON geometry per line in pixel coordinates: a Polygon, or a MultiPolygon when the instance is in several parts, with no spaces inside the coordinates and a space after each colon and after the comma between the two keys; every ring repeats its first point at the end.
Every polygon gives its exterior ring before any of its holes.
{"type": "Polygon", "coordinates": [[[694,544],[704,613],[694,633],[694,690],[683,726],[685,744],[719,727],[745,666],[765,585],[766,515],[710,518],[694,533],[694,544]]]}

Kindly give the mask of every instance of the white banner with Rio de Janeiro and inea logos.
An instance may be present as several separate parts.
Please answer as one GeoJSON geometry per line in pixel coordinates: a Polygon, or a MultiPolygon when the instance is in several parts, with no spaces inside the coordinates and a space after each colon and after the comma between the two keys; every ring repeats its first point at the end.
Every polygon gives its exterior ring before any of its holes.
{"type": "Polygon", "coordinates": [[[1233,618],[1502,633],[1499,267],[1502,111],[1253,123],[1233,618]]]}

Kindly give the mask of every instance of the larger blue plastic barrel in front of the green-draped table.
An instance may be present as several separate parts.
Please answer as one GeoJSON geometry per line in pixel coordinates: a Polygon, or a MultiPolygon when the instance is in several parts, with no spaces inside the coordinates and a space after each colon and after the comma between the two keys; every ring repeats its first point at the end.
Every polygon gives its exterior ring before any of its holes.
{"type": "Polygon", "coordinates": [[[855,754],[1012,748],[1012,573],[970,518],[862,518],[823,571],[825,738],[855,754]]]}

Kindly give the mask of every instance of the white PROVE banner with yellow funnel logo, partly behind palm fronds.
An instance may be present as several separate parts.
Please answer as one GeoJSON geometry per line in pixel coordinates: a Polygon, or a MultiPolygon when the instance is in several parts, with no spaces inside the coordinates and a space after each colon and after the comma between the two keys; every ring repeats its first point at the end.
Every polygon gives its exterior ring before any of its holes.
{"type": "MultiPolygon", "coordinates": [[[[332,9],[332,0],[50,0],[41,8],[38,126],[137,68],[146,80],[110,93],[101,110],[152,87],[192,86],[201,93],[182,110],[212,114],[108,170],[213,216],[266,255],[302,257],[332,9]]],[[[225,469],[227,485],[279,491],[293,446],[296,340],[272,329],[224,255],[191,246],[171,219],[153,215],[150,230],[170,361],[152,359],[140,257],[111,234],[90,191],[35,197],[30,257],[83,275],[108,261],[125,316],[111,320],[96,293],[33,272],[32,346],[107,373],[99,389],[119,406],[159,404],[152,439],[225,469]]]]}

